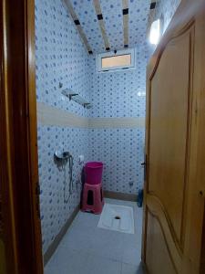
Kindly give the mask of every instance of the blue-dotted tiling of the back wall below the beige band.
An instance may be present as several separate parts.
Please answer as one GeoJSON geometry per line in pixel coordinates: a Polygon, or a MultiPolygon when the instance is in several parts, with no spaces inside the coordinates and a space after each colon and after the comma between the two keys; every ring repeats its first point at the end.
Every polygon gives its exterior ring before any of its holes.
{"type": "Polygon", "coordinates": [[[104,189],[137,194],[143,184],[144,139],[143,129],[89,132],[89,158],[105,165],[104,189]]]}

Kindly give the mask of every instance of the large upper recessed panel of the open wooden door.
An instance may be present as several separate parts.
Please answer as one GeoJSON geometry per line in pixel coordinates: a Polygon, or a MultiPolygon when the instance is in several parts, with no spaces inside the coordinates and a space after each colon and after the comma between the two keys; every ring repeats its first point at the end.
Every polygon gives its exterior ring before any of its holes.
{"type": "Polygon", "coordinates": [[[149,99],[148,190],[164,205],[180,244],[189,142],[190,31],[165,48],[150,80],[149,99]]]}

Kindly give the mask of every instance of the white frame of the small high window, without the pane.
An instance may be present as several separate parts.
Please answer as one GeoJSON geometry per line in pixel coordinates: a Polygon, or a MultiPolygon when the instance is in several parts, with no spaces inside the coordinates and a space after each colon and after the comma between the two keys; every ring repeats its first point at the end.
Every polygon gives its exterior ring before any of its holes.
{"type": "Polygon", "coordinates": [[[114,51],[106,52],[106,53],[99,53],[97,55],[97,72],[115,72],[124,69],[135,69],[136,68],[136,59],[135,59],[135,48],[128,48],[123,50],[118,50],[117,53],[114,51]],[[102,68],[102,58],[110,58],[115,56],[121,55],[130,55],[131,63],[128,66],[116,66],[110,68],[102,68]]]}

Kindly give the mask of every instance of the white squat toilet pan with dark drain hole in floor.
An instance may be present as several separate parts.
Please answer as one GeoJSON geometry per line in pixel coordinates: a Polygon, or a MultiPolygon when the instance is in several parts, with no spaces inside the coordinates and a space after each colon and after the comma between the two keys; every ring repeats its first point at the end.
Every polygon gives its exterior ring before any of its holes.
{"type": "Polygon", "coordinates": [[[133,208],[125,205],[105,204],[97,227],[134,234],[133,208]]]}

